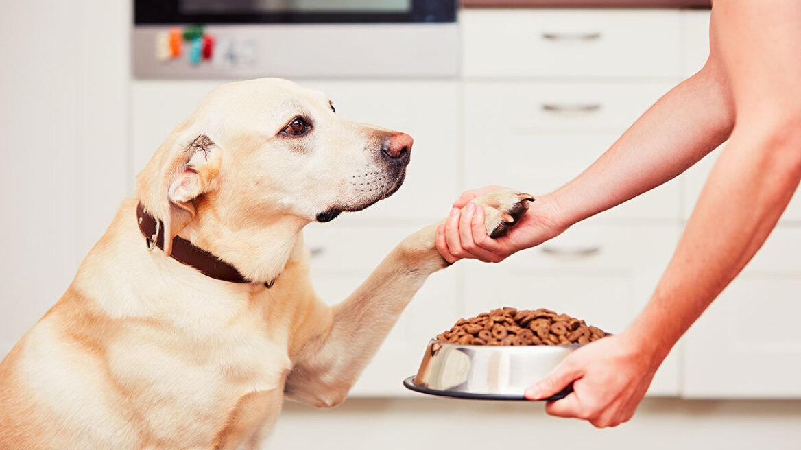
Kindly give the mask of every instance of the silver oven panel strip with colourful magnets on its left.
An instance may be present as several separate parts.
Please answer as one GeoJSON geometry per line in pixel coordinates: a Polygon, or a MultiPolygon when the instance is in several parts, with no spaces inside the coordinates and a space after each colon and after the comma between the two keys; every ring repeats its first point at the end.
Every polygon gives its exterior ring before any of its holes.
{"type": "Polygon", "coordinates": [[[136,78],[452,78],[457,24],[135,26],[136,78]]]}

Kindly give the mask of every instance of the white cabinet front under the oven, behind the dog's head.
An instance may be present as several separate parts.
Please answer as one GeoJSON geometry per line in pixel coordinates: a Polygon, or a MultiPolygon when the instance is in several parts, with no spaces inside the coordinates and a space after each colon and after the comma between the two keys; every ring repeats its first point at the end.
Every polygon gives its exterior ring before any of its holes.
{"type": "MultiPolygon", "coordinates": [[[[221,82],[135,82],[133,88],[134,170],[205,95],[221,82]]],[[[400,190],[358,214],[337,222],[422,226],[448,214],[457,199],[458,86],[455,81],[299,80],[322,90],[342,119],[403,131],[415,139],[400,190]]]]}

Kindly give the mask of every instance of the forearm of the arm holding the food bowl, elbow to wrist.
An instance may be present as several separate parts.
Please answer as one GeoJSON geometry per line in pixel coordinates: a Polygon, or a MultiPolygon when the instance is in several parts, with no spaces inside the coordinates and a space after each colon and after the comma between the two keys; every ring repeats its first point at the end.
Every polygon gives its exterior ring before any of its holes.
{"type": "Polygon", "coordinates": [[[801,139],[783,133],[735,131],[718,159],[650,303],[626,331],[647,343],[654,364],[743,270],[787,207],[801,179],[801,139]]]}

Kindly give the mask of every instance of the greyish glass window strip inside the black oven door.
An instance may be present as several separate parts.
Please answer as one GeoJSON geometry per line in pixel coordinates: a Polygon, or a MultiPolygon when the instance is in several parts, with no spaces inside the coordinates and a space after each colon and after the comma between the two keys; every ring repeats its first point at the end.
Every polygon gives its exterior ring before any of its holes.
{"type": "Polygon", "coordinates": [[[409,13],[412,0],[179,0],[183,14],[409,13]]]}

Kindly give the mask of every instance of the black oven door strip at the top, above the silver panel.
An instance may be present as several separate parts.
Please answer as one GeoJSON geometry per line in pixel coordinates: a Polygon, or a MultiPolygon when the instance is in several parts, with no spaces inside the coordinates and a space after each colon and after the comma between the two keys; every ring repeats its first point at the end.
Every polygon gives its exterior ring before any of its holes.
{"type": "Polygon", "coordinates": [[[135,0],[135,22],[455,22],[457,0],[135,0]]]}

